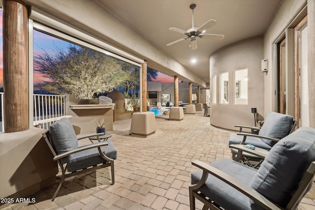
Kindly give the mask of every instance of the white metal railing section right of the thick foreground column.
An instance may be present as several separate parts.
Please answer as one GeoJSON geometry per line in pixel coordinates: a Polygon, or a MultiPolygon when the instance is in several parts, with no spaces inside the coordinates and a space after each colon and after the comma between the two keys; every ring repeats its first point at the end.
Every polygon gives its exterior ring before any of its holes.
{"type": "Polygon", "coordinates": [[[34,126],[48,129],[65,116],[64,95],[34,94],[34,126]]]}

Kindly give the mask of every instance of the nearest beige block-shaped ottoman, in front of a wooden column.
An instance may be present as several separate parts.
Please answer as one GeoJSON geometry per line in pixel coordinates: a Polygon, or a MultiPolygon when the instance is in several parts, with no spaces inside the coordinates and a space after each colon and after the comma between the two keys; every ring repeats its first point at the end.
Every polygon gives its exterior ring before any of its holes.
{"type": "Polygon", "coordinates": [[[136,112],[132,114],[130,135],[147,137],[157,130],[156,117],[153,112],[136,112]]]}

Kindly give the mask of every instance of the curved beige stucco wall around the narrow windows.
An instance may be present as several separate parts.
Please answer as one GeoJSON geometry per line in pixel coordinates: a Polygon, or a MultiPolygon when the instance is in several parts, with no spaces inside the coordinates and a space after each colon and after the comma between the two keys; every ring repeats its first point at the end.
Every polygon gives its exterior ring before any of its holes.
{"type": "MultiPolygon", "coordinates": [[[[212,125],[235,129],[235,124],[254,125],[251,108],[264,113],[264,77],[260,72],[263,58],[263,37],[256,36],[230,44],[210,57],[210,77],[217,75],[217,103],[210,105],[212,125]],[[248,105],[234,104],[234,70],[248,68],[248,105]],[[228,72],[229,103],[219,103],[219,74],[228,72]]],[[[212,81],[211,81],[212,82],[212,81]]]]}

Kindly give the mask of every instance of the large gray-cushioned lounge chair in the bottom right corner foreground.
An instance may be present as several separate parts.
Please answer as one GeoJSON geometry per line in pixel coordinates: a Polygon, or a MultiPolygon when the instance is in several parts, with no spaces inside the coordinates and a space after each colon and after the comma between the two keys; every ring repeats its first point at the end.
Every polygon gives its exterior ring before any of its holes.
{"type": "Polygon", "coordinates": [[[192,165],[200,170],[191,174],[190,210],[195,198],[203,210],[294,210],[313,183],[315,129],[301,127],[284,137],[258,170],[226,158],[192,165]]]}

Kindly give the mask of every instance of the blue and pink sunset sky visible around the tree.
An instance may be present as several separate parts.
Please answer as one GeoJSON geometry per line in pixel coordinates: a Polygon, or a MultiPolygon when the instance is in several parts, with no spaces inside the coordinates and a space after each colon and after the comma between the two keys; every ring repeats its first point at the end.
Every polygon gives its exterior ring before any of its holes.
{"type": "MultiPolygon", "coordinates": [[[[3,38],[2,38],[2,10],[0,10],[0,88],[3,87],[3,38]]],[[[66,49],[69,47],[70,43],[58,39],[56,37],[47,35],[45,33],[34,30],[33,32],[33,53],[34,55],[42,55],[46,51],[50,55],[54,55],[54,50],[56,47],[61,49],[66,49]]],[[[40,83],[45,80],[45,78],[34,72],[34,84],[40,83]]],[[[158,72],[158,78],[155,81],[161,81],[163,83],[172,83],[174,78],[158,72]]]]}

